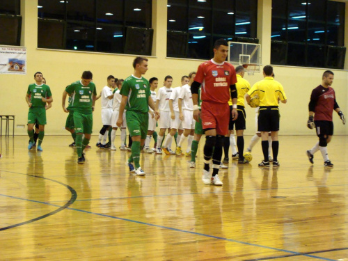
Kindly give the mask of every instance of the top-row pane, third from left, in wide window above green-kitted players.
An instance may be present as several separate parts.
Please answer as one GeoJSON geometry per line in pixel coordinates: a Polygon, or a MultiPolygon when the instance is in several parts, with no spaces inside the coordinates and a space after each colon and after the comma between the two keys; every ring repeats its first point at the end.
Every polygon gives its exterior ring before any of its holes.
{"type": "Polygon", "coordinates": [[[98,0],[97,22],[105,24],[123,24],[122,0],[98,0]]]}

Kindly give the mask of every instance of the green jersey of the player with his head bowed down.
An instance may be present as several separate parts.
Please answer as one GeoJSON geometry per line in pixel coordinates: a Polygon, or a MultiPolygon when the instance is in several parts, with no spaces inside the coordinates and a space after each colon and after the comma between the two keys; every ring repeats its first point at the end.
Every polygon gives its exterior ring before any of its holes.
{"type": "Polygon", "coordinates": [[[75,81],[65,88],[65,91],[72,95],[70,109],[82,114],[92,113],[93,95],[97,95],[95,84],[90,82],[88,86],[81,84],[81,81],[75,81]]]}

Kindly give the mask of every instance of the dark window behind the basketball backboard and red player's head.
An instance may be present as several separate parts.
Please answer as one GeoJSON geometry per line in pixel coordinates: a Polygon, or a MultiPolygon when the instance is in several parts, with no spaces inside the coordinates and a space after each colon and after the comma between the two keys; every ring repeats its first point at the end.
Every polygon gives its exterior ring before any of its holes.
{"type": "Polygon", "coordinates": [[[219,38],[256,38],[257,0],[168,0],[167,6],[168,57],[207,59],[219,38]]]}

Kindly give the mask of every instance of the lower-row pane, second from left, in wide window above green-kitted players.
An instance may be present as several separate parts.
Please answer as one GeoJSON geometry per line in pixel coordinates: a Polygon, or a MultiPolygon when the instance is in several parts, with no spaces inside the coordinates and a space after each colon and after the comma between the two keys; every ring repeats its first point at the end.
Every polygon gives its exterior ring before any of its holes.
{"type": "Polygon", "coordinates": [[[93,24],[68,23],[66,49],[94,51],[95,26],[93,24]]]}

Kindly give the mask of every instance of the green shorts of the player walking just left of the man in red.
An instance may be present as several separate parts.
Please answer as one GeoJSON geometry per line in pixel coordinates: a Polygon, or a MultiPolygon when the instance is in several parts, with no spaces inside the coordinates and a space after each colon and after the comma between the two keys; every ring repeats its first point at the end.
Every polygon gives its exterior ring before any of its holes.
{"type": "Polygon", "coordinates": [[[140,135],[142,140],[146,139],[146,134],[148,134],[149,113],[127,111],[126,120],[131,137],[140,135]]]}

